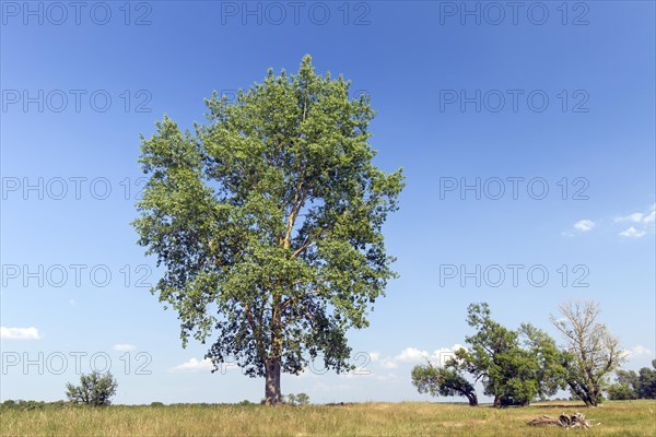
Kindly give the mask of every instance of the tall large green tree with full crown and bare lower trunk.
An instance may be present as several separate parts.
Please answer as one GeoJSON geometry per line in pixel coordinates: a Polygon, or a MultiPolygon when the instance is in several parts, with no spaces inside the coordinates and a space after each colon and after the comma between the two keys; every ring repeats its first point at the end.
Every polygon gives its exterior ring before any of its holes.
{"type": "Polygon", "coordinates": [[[368,324],[395,276],[380,228],[403,177],[372,163],[374,113],[349,86],[306,56],[234,102],[214,93],[194,133],[165,117],[142,139],[134,227],[165,268],[153,293],[177,310],[183,345],[211,340],[215,368],[235,358],[263,376],[268,403],[281,401],[281,371],[319,354],[352,368],[347,331],[368,324]]]}

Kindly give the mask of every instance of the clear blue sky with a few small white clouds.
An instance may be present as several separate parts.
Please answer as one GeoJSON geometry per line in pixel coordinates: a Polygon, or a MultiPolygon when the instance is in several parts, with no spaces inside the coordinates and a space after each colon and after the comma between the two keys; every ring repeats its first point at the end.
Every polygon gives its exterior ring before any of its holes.
{"type": "Polygon", "coordinates": [[[400,279],[350,334],[367,375],[317,365],[283,392],[427,399],[412,365],[464,343],[481,300],[558,338],[560,303],[597,299],[625,367],[654,358],[653,2],[67,4],[1,4],[2,400],[61,399],[106,361],[118,403],[262,397],[181,349],[149,293],[161,272],[129,224],[139,134],[164,114],[191,127],[213,90],[305,54],[372,96],[376,163],[408,186],[385,226],[400,279]]]}

